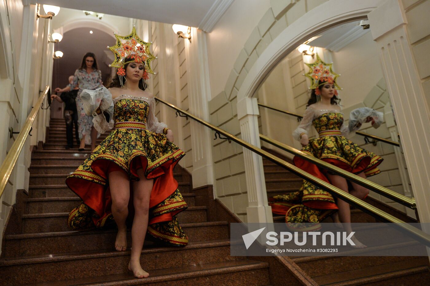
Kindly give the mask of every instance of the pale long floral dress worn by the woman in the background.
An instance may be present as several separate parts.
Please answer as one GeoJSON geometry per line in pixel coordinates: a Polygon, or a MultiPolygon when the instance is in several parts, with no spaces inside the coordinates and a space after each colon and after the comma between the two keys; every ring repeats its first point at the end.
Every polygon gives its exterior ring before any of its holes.
{"type": "Polygon", "coordinates": [[[85,69],[76,70],[74,74],[74,80],[70,85],[73,90],[75,87],[79,87],[79,91],[76,97],[76,108],[78,111],[78,133],[79,139],[85,135],[85,144],[91,145],[91,128],[92,128],[92,116],[87,116],[83,109],[83,103],[79,95],[84,89],[96,89],[103,85],[101,81],[101,71],[93,70],[91,73],[87,73],[85,69]]]}

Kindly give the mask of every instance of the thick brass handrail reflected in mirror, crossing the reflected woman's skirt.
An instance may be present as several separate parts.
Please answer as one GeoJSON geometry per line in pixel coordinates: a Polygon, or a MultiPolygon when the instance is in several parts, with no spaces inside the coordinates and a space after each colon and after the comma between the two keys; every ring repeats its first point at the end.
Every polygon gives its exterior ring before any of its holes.
{"type": "Polygon", "coordinates": [[[380,195],[383,195],[386,198],[390,198],[393,201],[396,201],[399,204],[402,204],[406,207],[409,207],[411,209],[416,209],[417,205],[415,203],[415,199],[414,198],[408,198],[405,195],[401,195],[397,192],[394,192],[390,189],[387,189],[383,186],[380,186],[376,183],[373,183],[372,181],[366,180],[360,176],[357,176],[353,173],[347,172],[339,167],[336,167],[335,165],[329,164],[325,161],[322,161],[318,158],[315,158],[313,156],[307,155],[305,152],[302,152],[298,149],[295,149],[294,147],[288,146],[284,143],[281,143],[279,141],[276,141],[274,139],[271,139],[267,136],[264,136],[263,134],[260,134],[260,139],[263,141],[266,141],[267,143],[272,144],[273,146],[276,146],[280,149],[283,149],[284,151],[287,151],[291,154],[294,154],[298,157],[301,157],[307,161],[312,162],[313,164],[316,164],[319,167],[328,169],[328,170],[332,170],[333,172],[335,172],[337,175],[344,177],[345,179],[351,180],[357,184],[359,184],[360,186],[363,186],[367,189],[370,189],[380,195]]]}

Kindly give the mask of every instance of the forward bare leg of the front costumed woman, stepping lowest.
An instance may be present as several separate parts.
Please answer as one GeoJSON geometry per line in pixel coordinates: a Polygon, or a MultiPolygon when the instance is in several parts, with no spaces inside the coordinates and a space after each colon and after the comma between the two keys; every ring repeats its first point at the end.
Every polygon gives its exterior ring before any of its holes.
{"type": "Polygon", "coordinates": [[[129,270],[137,278],[148,277],[149,273],[144,271],[140,265],[145,234],[148,228],[149,199],[151,197],[154,180],[146,179],[143,169],[137,170],[139,181],[133,182],[133,205],[135,216],[132,226],[132,253],[129,262],[129,270]]]}

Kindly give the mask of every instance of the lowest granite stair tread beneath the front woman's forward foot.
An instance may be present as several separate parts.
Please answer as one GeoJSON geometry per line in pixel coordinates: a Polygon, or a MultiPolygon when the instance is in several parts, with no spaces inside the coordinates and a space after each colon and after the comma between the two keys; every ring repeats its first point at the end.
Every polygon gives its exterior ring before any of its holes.
{"type": "MultiPolygon", "coordinates": [[[[52,283],[40,283],[34,284],[39,285],[58,285],[58,286],[68,286],[68,285],[141,285],[142,283],[174,283],[176,281],[181,281],[189,278],[196,277],[207,277],[219,274],[229,274],[240,271],[255,271],[261,268],[268,268],[268,264],[265,262],[259,262],[250,259],[235,260],[228,262],[215,262],[207,263],[203,265],[191,265],[184,267],[175,268],[164,268],[155,269],[150,271],[150,277],[144,279],[138,279],[133,277],[132,273],[127,274],[113,274],[97,277],[88,277],[80,279],[71,280],[61,280],[52,283]]],[[[252,274],[252,273],[249,273],[252,274]]],[[[246,281],[237,281],[236,285],[247,285],[246,281]]]]}

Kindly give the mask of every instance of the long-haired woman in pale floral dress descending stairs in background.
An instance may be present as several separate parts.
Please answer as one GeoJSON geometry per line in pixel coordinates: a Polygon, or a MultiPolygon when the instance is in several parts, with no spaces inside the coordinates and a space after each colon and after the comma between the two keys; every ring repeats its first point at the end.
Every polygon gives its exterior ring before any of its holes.
{"type": "Polygon", "coordinates": [[[80,94],[84,89],[94,90],[101,86],[103,86],[103,82],[101,81],[101,71],[97,69],[97,60],[93,53],[88,52],[82,58],[81,67],[75,71],[73,82],[65,88],[55,88],[57,92],[64,92],[79,87],[76,97],[80,139],[79,151],[83,151],[85,145],[91,145],[91,150],[94,150],[97,140],[97,131],[93,127],[92,116],[86,115],[80,94]]]}

